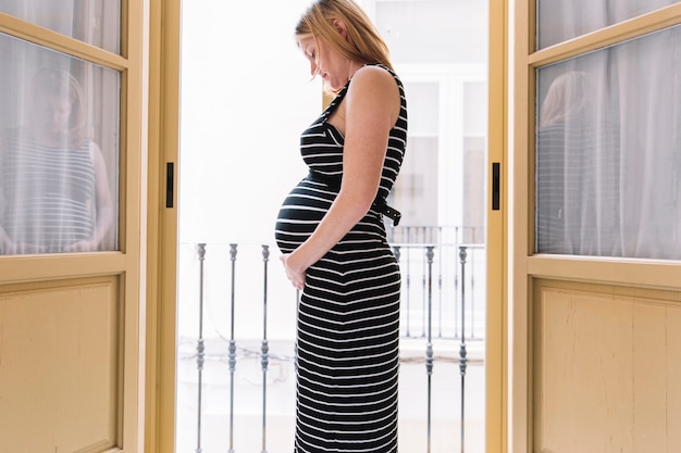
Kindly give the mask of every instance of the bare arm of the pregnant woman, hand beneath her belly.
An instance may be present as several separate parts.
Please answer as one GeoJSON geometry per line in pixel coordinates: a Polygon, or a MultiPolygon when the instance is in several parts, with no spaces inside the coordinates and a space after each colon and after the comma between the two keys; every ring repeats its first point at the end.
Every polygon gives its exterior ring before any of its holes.
{"type": "Polygon", "coordinates": [[[343,183],[314,232],[293,253],[282,256],[297,289],[308,267],[319,261],[367,214],[383,171],[388,135],[399,115],[397,84],[385,70],[364,66],[355,73],[345,103],[343,183]]]}

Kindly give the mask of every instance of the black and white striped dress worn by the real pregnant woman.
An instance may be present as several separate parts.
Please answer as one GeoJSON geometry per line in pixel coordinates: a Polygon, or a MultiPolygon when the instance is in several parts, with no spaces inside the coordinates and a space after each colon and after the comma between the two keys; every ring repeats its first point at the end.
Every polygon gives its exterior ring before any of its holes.
{"type": "MultiPolygon", "coordinates": [[[[391,130],[379,189],[386,197],[407,139],[407,108],[391,130]]],[[[348,84],[302,134],[310,169],[343,175],[344,137],[326,121],[348,84]]],[[[275,237],[288,253],[315,229],[337,188],[308,176],[284,201],[275,237]]],[[[400,275],[373,209],[307,273],[298,307],[295,451],[396,452],[400,275]]]]}

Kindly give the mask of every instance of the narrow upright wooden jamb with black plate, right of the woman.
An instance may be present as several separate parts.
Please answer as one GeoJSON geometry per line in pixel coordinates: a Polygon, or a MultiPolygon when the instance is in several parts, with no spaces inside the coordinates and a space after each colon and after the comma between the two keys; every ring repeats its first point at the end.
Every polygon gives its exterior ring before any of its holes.
{"type": "Polygon", "coordinates": [[[488,2],[485,451],[508,451],[508,3],[488,2]],[[493,165],[498,165],[495,175],[493,165]],[[495,181],[494,179],[497,178],[495,181]],[[498,184],[498,206],[493,185],[498,184]]]}

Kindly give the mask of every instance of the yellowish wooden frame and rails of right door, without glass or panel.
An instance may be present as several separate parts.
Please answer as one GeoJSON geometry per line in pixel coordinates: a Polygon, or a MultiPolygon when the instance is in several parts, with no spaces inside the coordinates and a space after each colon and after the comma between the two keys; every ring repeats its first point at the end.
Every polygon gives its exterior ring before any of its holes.
{"type": "MultiPolygon", "coordinates": [[[[505,0],[509,1],[509,0],[505,0]]],[[[587,33],[566,42],[535,50],[535,2],[516,0],[512,3],[508,39],[511,43],[512,99],[509,101],[512,121],[511,153],[512,244],[508,279],[509,323],[509,451],[533,451],[532,405],[532,301],[537,279],[569,280],[647,289],[681,288],[678,284],[678,262],[630,260],[590,256],[535,254],[534,239],[534,102],[535,70],[557,61],[573,58],[627,39],[681,23],[681,3],[643,14],[618,24],[587,33]]]]}

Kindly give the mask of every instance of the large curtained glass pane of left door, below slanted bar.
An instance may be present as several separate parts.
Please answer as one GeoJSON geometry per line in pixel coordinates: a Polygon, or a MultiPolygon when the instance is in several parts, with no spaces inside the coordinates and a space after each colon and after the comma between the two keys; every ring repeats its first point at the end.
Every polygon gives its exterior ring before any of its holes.
{"type": "Polygon", "coordinates": [[[0,254],[117,250],[120,74],[0,34],[0,254]]]}

